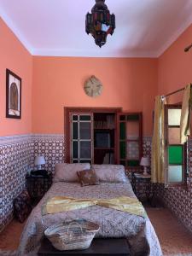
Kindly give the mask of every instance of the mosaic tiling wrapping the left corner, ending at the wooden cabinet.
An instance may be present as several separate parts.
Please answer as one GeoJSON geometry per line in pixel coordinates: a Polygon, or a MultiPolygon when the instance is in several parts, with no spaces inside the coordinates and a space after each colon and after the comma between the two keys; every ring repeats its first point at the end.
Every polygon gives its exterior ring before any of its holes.
{"type": "Polygon", "coordinates": [[[0,231],[13,218],[13,201],[26,187],[26,172],[36,155],[44,155],[45,168],[54,171],[65,156],[63,135],[0,137],[0,231]]]}

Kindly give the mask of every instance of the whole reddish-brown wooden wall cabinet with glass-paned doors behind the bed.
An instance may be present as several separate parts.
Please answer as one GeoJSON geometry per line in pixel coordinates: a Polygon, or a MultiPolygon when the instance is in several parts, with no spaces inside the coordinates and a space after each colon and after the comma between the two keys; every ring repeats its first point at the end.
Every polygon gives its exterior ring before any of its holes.
{"type": "Polygon", "coordinates": [[[142,113],[121,108],[65,108],[67,162],[138,167],[142,113]]]}

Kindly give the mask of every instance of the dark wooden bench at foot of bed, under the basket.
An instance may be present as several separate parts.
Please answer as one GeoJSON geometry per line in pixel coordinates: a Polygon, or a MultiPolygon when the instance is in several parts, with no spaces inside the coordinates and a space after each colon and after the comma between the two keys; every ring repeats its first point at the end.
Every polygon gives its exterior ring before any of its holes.
{"type": "Polygon", "coordinates": [[[130,256],[130,249],[125,238],[95,238],[90,247],[85,250],[59,251],[56,250],[50,241],[44,237],[41,247],[38,250],[39,256],[59,256],[59,255],[119,255],[130,256]]]}

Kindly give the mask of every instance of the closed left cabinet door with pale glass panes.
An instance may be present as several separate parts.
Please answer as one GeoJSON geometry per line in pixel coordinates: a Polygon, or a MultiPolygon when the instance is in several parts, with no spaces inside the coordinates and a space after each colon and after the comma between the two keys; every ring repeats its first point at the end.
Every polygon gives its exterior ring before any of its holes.
{"type": "Polygon", "coordinates": [[[93,115],[71,113],[71,163],[92,163],[93,160],[93,115]]]}

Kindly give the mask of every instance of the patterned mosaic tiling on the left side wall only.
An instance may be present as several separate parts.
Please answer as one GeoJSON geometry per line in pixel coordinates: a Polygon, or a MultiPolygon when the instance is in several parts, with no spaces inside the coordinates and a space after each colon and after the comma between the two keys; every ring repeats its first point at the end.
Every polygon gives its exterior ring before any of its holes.
{"type": "Polygon", "coordinates": [[[32,165],[32,137],[0,137],[0,231],[13,218],[13,200],[32,165]]]}

